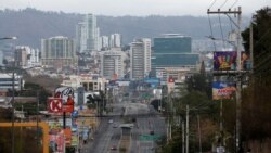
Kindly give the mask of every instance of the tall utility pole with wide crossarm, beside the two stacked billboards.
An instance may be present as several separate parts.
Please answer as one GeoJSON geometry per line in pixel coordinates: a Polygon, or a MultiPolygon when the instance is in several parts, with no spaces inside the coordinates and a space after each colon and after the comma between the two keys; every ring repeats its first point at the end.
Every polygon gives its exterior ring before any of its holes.
{"type": "MultiPolygon", "coordinates": [[[[231,22],[233,22],[233,24],[236,26],[237,28],[237,39],[235,40],[235,48],[237,49],[237,59],[236,59],[236,71],[233,73],[233,75],[235,75],[236,78],[236,138],[235,138],[235,145],[236,145],[236,152],[240,151],[241,149],[241,90],[242,90],[242,66],[241,65],[241,48],[242,48],[242,39],[241,39],[241,7],[238,7],[237,10],[232,11],[231,9],[229,9],[228,11],[221,11],[220,9],[218,9],[218,11],[210,11],[208,9],[207,14],[225,14],[231,22]],[[235,23],[230,16],[229,14],[234,14],[237,15],[237,23],[235,23]]],[[[220,75],[227,75],[228,72],[223,73],[221,72],[220,75]]]]}

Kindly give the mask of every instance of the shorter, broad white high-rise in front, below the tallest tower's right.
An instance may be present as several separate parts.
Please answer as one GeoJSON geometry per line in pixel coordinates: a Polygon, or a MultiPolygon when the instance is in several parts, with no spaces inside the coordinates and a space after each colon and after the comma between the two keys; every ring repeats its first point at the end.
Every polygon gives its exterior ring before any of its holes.
{"type": "Polygon", "coordinates": [[[113,48],[101,52],[101,75],[114,80],[122,78],[125,75],[126,54],[119,48],[113,48]]]}

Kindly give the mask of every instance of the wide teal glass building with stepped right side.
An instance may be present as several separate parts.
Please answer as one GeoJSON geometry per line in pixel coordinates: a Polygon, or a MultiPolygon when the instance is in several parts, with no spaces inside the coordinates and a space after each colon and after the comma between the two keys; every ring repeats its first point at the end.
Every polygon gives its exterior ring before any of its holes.
{"type": "MultiPolygon", "coordinates": [[[[165,68],[196,68],[199,54],[192,53],[192,39],[179,34],[166,34],[154,38],[152,72],[165,76],[165,68]]],[[[164,78],[164,80],[167,78],[164,78]]]]}

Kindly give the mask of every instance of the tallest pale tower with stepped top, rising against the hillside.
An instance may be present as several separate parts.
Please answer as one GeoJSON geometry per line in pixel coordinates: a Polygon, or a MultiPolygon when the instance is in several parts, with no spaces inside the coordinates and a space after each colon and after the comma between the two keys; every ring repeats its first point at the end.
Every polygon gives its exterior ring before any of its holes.
{"type": "Polygon", "coordinates": [[[76,49],[78,52],[92,52],[99,50],[100,29],[96,26],[96,17],[87,14],[83,22],[76,26],[76,49]]]}

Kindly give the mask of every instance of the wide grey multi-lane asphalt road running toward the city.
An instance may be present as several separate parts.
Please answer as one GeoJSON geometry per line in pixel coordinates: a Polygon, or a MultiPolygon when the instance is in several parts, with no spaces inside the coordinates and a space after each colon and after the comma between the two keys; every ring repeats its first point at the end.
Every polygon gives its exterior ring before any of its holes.
{"type": "Polygon", "coordinates": [[[107,117],[101,118],[99,130],[94,135],[94,139],[83,145],[82,153],[118,153],[120,145],[121,128],[118,126],[127,122],[133,120],[134,127],[131,129],[130,153],[154,153],[156,143],[155,140],[142,139],[143,136],[160,137],[166,133],[165,119],[159,116],[154,109],[146,104],[120,102],[111,105],[113,112],[107,117]],[[125,107],[125,115],[121,117],[125,107]],[[124,119],[126,118],[126,119],[124,119]],[[113,119],[113,123],[108,123],[113,119]],[[151,135],[153,131],[153,135],[151,135]],[[117,150],[112,150],[116,146],[117,150]]]}

